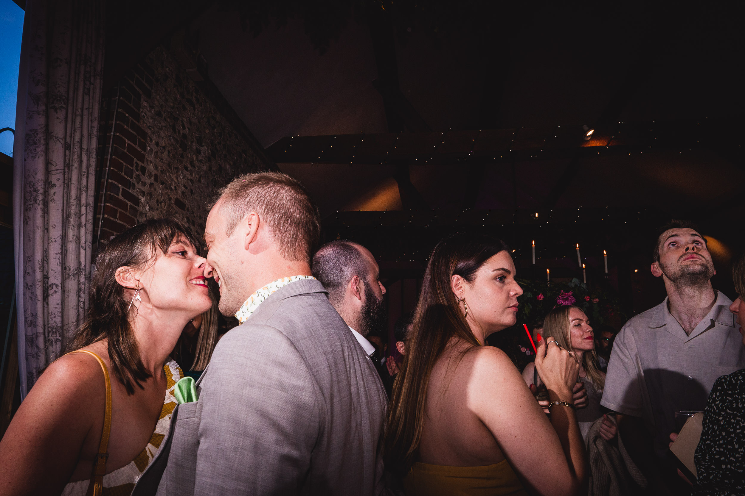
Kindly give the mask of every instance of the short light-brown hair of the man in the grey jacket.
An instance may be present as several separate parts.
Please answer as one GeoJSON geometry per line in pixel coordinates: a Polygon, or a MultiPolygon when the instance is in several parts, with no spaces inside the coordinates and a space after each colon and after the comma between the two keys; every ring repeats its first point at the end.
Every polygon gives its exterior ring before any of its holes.
{"type": "Polygon", "coordinates": [[[220,191],[218,202],[227,220],[227,236],[255,210],[266,220],[282,257],[310,262],[321,221],[318,208],[297,179],[282,173],[239,175],[220,191]]]}

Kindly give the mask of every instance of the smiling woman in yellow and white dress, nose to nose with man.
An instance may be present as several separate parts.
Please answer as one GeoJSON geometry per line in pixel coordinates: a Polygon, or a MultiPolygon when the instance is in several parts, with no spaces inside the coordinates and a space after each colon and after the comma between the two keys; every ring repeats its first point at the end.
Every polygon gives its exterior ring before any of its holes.
{"type": "Polygon", "coordinates": [[[198,247],[180,222],[159,219],[101,250],[86,322],[0,442],[1,495],[132,491],[176,406],[182,373],[168,355],[212,306],[198,247]]]}

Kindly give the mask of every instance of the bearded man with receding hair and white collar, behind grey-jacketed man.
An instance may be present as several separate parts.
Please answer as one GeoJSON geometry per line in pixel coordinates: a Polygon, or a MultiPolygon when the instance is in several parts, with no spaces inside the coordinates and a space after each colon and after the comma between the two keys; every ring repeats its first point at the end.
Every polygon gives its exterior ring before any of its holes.
{"type": "Polygon", "coordinates": [[[323,245],[314,255],[311,266],[313,277],[329,292],[332,306],[387,385],[382,352],[367,339],[387,334],[385,288],[379,280],[380,268],[375,257],[364,246],[342,239],[323,245]]]}

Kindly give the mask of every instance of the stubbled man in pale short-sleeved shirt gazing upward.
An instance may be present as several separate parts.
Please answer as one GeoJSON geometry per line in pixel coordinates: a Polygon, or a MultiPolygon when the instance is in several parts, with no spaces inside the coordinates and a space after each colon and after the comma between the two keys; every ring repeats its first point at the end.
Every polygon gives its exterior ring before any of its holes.
{"type": "Polygon", "coordinates": [[[615,338],[601,405],[615,410],[618,430],[651,494],[685,494],[668,457],[675,412],[703,410],[714,381],[745,367],[732,303],[711,287],[716,274],[706,239],[690,222],[660,228],[652,274],[665,301],[630,319],[615,338]],[[651,434],[651,435],[650,435],[651,434]]]}

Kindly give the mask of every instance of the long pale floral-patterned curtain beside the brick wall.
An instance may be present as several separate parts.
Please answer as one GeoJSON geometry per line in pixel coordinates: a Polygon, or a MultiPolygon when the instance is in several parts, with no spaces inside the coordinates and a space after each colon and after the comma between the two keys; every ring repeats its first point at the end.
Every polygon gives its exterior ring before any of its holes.
{"type": "Polygon", "coordinates": [[[26,2],[13,157],[22,396],[85,317],[103,66],[103,1],[26,2]]]}

